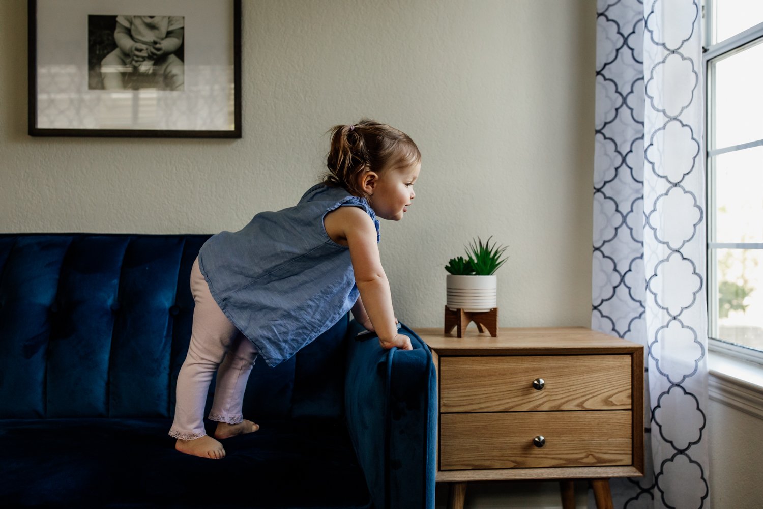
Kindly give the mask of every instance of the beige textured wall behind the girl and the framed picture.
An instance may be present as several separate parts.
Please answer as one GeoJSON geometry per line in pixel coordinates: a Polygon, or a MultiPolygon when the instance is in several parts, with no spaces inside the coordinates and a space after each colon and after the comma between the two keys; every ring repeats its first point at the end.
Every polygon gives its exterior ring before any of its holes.
{"type": "MultiPolygon", "coordinates": [[[[242,140],[32,138],[26,2],[2,0],[0,231],[236,230],[369,116],[423,153],[414,206],[381,227],[401,320],[439,327],[443,266],[493,235],[502,326],[587,326],[595,26],[593,0],[244,0],[242,140]]],[[[536,507],[559,507],[550,486],[536,507]]]]}

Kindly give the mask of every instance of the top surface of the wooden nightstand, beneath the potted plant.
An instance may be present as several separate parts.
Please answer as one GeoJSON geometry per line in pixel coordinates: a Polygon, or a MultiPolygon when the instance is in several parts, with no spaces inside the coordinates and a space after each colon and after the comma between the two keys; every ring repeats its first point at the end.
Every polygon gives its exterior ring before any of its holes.
{"type": "Polygon", "coordinates": [[[456,330],[446,336],[441,327],[413,330],[440,355],[631,353],[643,348],[585,327],[501,327],[498,337],[491,337],[487,331],[479,333],[473,324],[464,337],[457,337],[456,330]]]}

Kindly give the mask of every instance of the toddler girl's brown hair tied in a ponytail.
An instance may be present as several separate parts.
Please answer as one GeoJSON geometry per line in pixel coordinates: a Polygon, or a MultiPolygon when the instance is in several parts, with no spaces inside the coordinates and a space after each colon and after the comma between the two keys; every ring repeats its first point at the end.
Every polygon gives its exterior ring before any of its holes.
{"type": "Polygon", "coordinates": [[[356,196],[368,198],[358,185],[363,171],[381,173],[421,160],[419,148],[410,136],[368,118],[355,125],[335,125],[327,132],[331,133],[331,148],[326,158],[329,171],[323,183],[343,187],[356,196]]]}

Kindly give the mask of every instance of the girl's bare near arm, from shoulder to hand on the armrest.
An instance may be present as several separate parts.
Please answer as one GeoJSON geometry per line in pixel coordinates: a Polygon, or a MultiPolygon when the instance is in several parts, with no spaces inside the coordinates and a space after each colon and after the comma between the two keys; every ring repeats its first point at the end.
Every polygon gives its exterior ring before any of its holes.
{"type": "Polygon", "coordinates": [[[387,275],[381,267],[374,221],[362,208],[340,207],[327,214],[324,224],[330,237],[336,237],[335,241],[346,240],[349,246],[361,305],[378,334],[381,346],[411,350],[410,338],[398,334],[395,326],[392,295],[387,275]]]}

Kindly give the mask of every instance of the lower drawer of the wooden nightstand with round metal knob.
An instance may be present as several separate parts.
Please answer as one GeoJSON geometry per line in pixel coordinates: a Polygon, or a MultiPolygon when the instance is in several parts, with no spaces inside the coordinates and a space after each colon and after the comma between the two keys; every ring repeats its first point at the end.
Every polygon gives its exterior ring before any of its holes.
{"type": "Polygon", "coordinates": [[[631,430],[630,411],[441,414],[440,469],[630,465],[631,430]]]}

